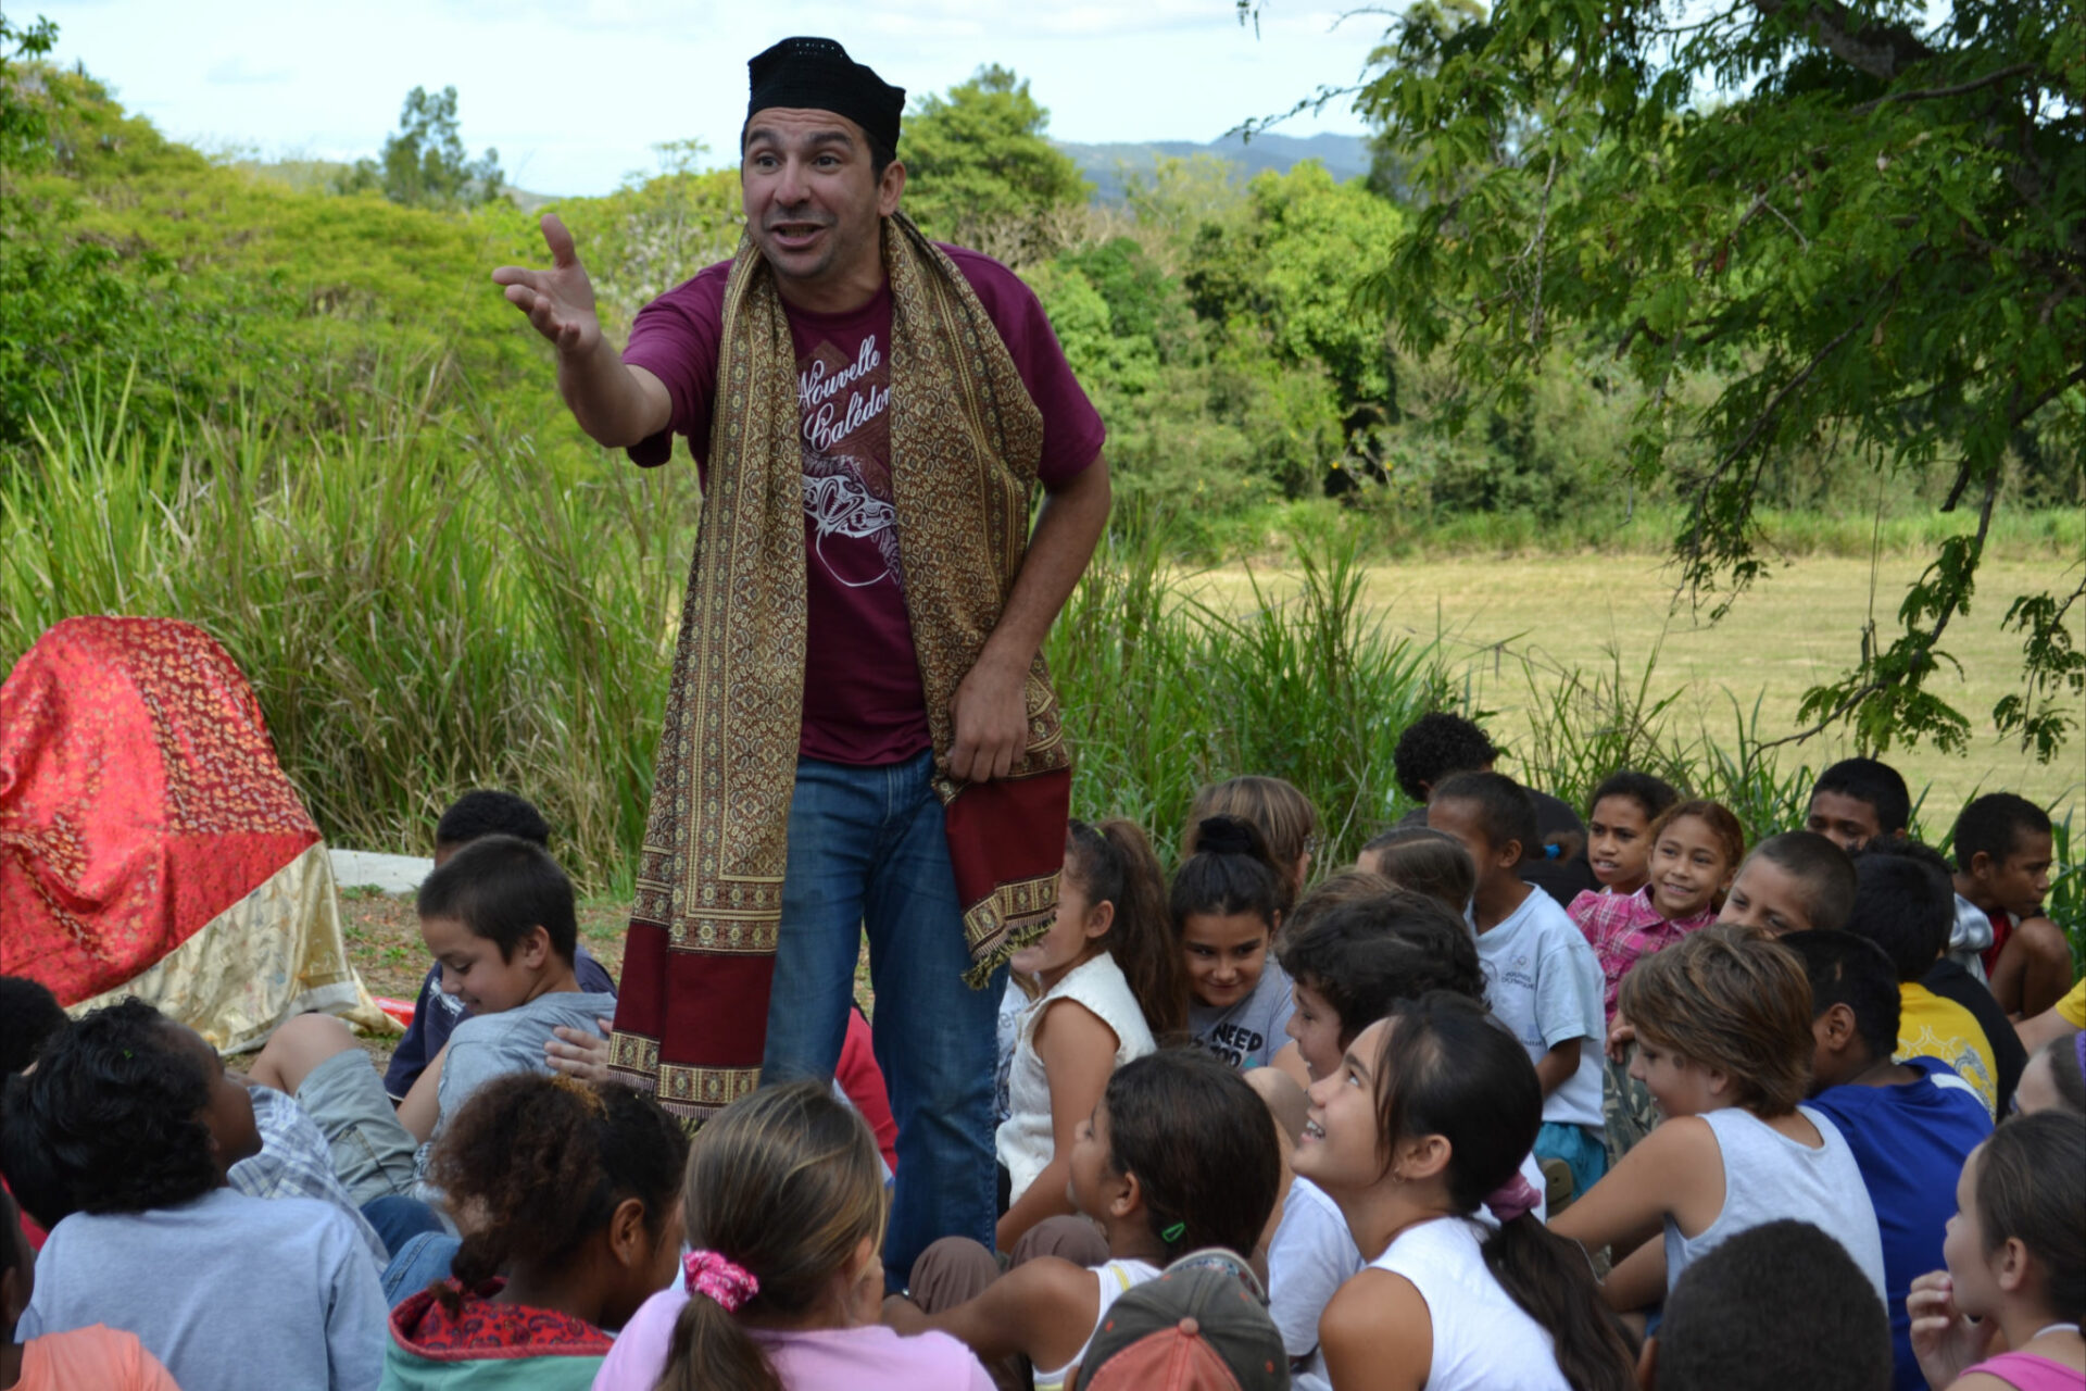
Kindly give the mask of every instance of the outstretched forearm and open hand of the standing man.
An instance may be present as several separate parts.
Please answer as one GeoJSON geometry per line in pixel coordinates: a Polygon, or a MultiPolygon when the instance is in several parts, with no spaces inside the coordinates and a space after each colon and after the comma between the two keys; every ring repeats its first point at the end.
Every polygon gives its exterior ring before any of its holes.
{"type": "Polygon", "coordinates": [[[551,248],[549,271],[503,265],[492,271],[492,284],[507,286],[507,302],[557,348],[557,390],[580,430],[607,448],[649,440],[674,415],[665,384],[642,367],[624,365],[601,336],[595,284],[557,213],[542,215],[542,240],[551,248]]]}

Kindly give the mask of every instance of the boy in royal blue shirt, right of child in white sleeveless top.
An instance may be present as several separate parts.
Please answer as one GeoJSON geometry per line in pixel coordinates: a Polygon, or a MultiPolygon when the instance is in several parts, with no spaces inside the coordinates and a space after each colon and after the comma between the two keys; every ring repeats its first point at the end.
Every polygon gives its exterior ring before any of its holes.
{"type": "Polygon", "coordinates": [[[1955,1176],[1988,1134],[1984,1099],[1934,1057],[1892,1061],[1898,1047],[1898,972],[1884,949],[1852,932],[1779,938],[1811,978],[1811,1099],[1846,1139],[1884,1243],[1884,1308],[1898,1391],[1921,1391],[1905,1295],[1940,1264],[1955,1214],[1955,1176]]]}

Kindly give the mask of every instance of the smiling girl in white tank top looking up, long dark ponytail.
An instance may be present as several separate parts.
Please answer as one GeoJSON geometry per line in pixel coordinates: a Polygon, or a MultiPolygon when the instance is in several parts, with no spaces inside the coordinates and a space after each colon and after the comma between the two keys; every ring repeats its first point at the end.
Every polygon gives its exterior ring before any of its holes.
{"type": "Polygon", "coordinates": [[[1398,1005],[1310,1099],[1293,1168],[1333,1197],[1371,1262],[1318,1322],[1333,1391],[1362,1378],[1410,1391],[1635,1385],[1592,1266],[1531,1216],[1519,1166],[1542,1126],[1542,1082],[1483,1005],[1448,991],[1398,1005]]]}

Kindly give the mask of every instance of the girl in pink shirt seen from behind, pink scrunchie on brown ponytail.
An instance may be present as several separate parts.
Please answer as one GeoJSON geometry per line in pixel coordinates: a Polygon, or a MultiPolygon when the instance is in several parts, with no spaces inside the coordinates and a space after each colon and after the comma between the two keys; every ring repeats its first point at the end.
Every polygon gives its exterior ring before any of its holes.
{"type": "Polygon", "coordinates": [[[682,1207],[682,1278],[624,1326],[595,1391],[991,1391],[949,1335],[878,1322],[882,1170],[828,1089],[726,1107],[695,1137],[682,1207]]]}

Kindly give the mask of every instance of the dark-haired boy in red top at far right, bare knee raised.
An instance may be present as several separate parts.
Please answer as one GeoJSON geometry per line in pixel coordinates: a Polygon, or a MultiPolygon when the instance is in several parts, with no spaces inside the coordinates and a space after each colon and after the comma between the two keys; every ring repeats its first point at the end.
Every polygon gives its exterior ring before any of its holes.
{"type": "Polygon", "coordinates": [[[2051,815],[2026,797],[1988,792],[1963,807],[1955,832],[1957,928],[1992,943],[1978,955],[1992,999],[2011,1018],[2042,1014],[2071,989],[2071,943],[2042,911],[2051,890],[2051,815]]]}

